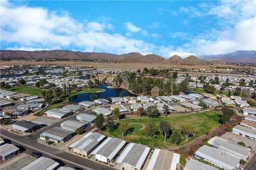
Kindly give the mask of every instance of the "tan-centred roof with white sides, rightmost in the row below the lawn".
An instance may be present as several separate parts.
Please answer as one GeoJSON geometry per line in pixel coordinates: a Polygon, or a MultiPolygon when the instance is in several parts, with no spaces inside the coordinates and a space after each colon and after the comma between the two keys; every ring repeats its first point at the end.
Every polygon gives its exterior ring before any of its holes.
{"type": "Polygon", "coordinates": [[[176,154],[169,150],[155,149],[150,162],[148,163],[147,170],[167,170],[176,169],[177,163],[180,160],[180,154],[176,154]]]}

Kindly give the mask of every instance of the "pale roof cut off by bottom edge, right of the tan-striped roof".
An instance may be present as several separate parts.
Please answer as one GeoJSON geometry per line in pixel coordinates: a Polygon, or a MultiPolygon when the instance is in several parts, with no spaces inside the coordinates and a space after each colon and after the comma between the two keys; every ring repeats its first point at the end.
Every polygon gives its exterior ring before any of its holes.
{"type": "Polygon", "coordinates": [[[215,167],[211,167],[210,165],[206,165],[205,163],[202,163],[198,160],[190,159],[186,166],[184,167],[184,170],[205,170],[205,169],[213,169],[213,170],[219,170],[215,167]]]}

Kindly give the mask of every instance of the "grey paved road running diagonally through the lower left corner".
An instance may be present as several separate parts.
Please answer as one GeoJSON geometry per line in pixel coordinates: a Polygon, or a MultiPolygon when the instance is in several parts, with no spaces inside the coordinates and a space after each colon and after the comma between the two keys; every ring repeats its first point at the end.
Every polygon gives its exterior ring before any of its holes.
{"type": "Polygon", "coordinates": [[[109,167],[107,165],[103,165],[101,163],[97,163],[96,161],[88,160],[85,158],[81,158],[79,156],[75,156],[74,154],[70,154],[68,152],[64,152],[62,150],[58,150],[51,146],[47,146],[45,144],[37,143],[37,139],[32,139],[30,137],[18,136],[14,133],[1,129],[1,137],[3,139],[10,139],[12,143],[18,143],[20,146],[24,146],[24,148],[30,148],[31,150],[36,150],[37,152],[43,153],[43,155],[47,155],[50,158],[54,158],[57,160],[63,161],[65,164],[72,165],[72,167],[80,168],[80,169],[110,169],[114,170],[113,167],[109,167]]]}

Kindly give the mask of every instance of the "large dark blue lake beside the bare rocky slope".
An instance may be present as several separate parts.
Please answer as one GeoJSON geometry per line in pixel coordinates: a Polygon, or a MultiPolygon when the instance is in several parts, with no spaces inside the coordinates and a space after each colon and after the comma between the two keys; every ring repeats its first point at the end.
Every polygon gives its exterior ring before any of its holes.
{"type": "MultiPolygon", "coordinates": [[[[122,93],[122,97],[125,96],[137,96],[133,93],[130,93],[128,90],[123,88],[107,88],[107,86],[100,86],[101,89],[106,90],[105,92],[95,93],[95,99],[107,99],[108,97],[120,97],[120,93],[122,93]]],[[[74,103],[79,103],[81,101],[91,101],[90,99],[91,93],[81,93],[70,97],[68,100],[74,103]]]]}

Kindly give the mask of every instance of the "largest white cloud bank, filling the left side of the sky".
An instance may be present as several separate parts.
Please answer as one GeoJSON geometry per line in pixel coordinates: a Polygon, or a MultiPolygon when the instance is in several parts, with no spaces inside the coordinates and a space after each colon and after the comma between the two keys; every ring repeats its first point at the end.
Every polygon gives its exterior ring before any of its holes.
{"type": "MultiPolygon", "coordinates": [[[[77,48],[87,52],[123,54],[140,52],[158,53],[158,46],[119,33],[106,33],[112,29],[108,22],[77,22],[69,14],[57,14],[40,7],[1,3],[1,42],[16,44],[14,50],[51,50],[77,48]]],[[[133,33],[146,30],[128,24],[133,33]]]]}

